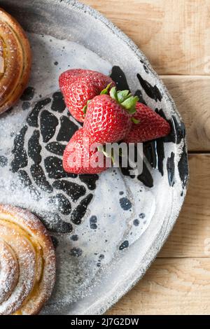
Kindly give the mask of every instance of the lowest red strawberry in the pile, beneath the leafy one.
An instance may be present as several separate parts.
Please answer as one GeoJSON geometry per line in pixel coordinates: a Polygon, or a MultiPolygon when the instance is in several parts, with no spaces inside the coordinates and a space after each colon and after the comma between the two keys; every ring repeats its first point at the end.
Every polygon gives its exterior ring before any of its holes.
{"type": "Polygon", "coordinates": [[[88,139],[84,135],[83,128],[73,134],[69,144],[66,146],[63,157],[63,167],[66,172],[72,174],[99,174],[106,170],[104,154],[97,150],[92,151],[92,144],[88,144],[88,139]],[[93,167],[93,162],[102,163],[102,167],[93,167]]]}

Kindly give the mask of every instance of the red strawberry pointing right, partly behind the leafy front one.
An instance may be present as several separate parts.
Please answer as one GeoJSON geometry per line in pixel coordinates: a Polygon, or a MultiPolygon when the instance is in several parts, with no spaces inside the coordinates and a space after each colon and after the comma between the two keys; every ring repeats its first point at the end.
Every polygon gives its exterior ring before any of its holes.
{"type": "Polygon", "coordinates": [[[124,139],[126,143],[142,143],[169,134],[170,125],[159,114],[141,103],[137,103],[136,109],[137,112],[132,116],[132,129],[124,139]]]}

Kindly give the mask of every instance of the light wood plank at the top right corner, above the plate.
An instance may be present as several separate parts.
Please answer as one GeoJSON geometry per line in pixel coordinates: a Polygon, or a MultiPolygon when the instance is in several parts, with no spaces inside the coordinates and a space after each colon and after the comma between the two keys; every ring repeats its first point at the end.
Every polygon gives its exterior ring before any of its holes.
{"type": "Polygon", "coordinates": [[[83,0],[130,36],[160,74],[210,73],[210,0],[83,0]]]}

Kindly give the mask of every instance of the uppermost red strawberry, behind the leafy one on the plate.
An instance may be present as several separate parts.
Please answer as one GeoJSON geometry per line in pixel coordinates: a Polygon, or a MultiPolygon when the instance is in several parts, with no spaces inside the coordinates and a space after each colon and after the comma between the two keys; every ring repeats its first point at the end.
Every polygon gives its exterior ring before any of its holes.
{"type": "Polygon", "coordinates": [[[66,106],[71,115],[80,122],[84,121],[83,108],[87,101],[99,95],[108,85],[111,87],[115,83],[109,76],[97,71],[72,69],[59,77],[59,87],[66,106]]]}

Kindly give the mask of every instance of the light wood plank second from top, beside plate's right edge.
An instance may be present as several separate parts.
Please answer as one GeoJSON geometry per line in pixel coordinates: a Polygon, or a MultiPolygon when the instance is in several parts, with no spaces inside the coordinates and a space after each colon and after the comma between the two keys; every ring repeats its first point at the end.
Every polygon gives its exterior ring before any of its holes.
{"type": "Polygon", "coordinates": [[[186,124],[189,151],[210,151],[210,76],[161,76],[186,124]]]}

